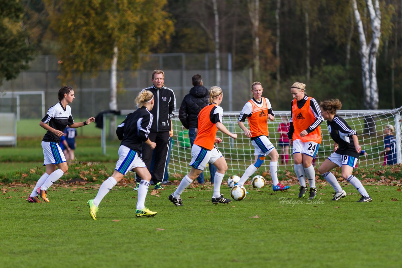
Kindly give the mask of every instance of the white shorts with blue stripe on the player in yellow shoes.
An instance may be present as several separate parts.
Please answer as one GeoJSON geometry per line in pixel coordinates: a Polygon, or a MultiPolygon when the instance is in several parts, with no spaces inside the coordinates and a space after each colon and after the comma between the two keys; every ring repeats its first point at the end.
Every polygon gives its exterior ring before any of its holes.
{"type": "Polygon", "coordinates": [[[137,167],[146,168],[144,161],[139,157],[139,153],[131,150],[127,146],[120,145],[119,160],[117,160],[115,170],[125,175],[127,172],[137,167]]]}

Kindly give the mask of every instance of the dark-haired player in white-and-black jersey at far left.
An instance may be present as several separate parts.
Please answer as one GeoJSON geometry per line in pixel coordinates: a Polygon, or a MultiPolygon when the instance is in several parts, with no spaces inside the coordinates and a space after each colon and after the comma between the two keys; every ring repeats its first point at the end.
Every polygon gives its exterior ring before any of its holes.
{"type": "Polygon", "coordinates": [[[68,170],[66,158],[60,148],[60,137],[64,136],[63,131],[66,126],[83,127],[95,121],[94,117],[90,117],[84,122],[74,123],[71,108],[67,105],[75,98],[74,90],[71,87],[60,88],[58,98],[60,102],[51,106],[39,123],[39,126],[47,130],[42,139],[43,157],[45,158],[43,166],[46,166],[46,172],[39,178],[31,195],[28,196],[29,203],[41,203],[38,195],[43,201],[49,202],[47,189],[68,170]]]}

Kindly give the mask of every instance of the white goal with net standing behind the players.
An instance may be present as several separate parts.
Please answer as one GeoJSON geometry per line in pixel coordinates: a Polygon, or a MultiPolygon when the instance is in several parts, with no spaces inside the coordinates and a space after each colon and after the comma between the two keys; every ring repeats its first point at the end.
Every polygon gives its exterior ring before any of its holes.
{"type": "MultiPolygon", "coordinates": [[[[122,116],[118,117],[118,122],[124,120],[125,115],[130,110],[122,111],[122,116]]],[[[275,121],[268,121],[269,139],[281,154],[278,145],[279,134],[277,133],[278,125],[281,122],[281,117],[287,117],[289,119],[290,111],[274,111],[275,121]]],[[[397,145],[397,162],[402,162],[401,154],[401,138],[402,138],[402,107],[394,110],[339,110],[337,114],[343,117],[349,126],[357,132],[359,137],[359,145],[361,145],[362,150],[364,150],[367,155],[361,155],[359,157],[358,166],[380,166],[384,163],[384,157],[379,156],[379,152],[384,150],[384,133],[383,129],[385,125],[393,125],[395,127],[396,145],[397,145]],[[365,118],[372,119],[375,122],[375,130],[371,133],[365,134],[365,118]]],[[[222,143],[217,145],[218,149],[222,152],[226,161],[228,163],[227,174],[240,174],[252,164],[254,161],[254,147],[252,147],[250,139],[244,136],[243,131],[238,127],[237,119],[240,112],[224,112],[223,123],[231,131],[238,134],[236,140],[229,138],[223,133],[217,133],[217,137],[222,138],[222,143]]],[[[105,115],[106,127],[109,115],[105,115]]],[[[168,173],[170,175],[175,174],[176,177],[180,177],[182,174],[189,172],[189,162],[191,160],[191,148],[189,147],[189,142],[186,141],[188,137],[188,130],[184,129],[180,120],[178,119],[178,114],[172,118],[173,123],[173,145],[170,155],[170,162],[168,166],[168,173]]],[[[244,122],[244,125],[248,127],[248,122],[244,122]]],[[[106,130],[106,129],[105,129],[106,130]]],[[[104,130],[104,131],[105,131],[104,130]]],[[[332,153],[333,141],[328,133],[328,128],[326,121],[321,124],[322,132],[322,143],[318,151],[318,156],[315,161],[315,166],[319,166],[324,160],[332,153]]],[[[106,133],[106,132],[104,132],[106,133]]],[[[105,136],[105,135],[104,135],[105,136]]],[[[105,147],[113,146],[117,147],[119,143],[111,143],[104,140],[103,144],[105,147]]],[[[290,153],[290,151],[289,151],[290,153]]],[[[266,162],[269,162],[269,157],[266,162]]],[[[269,165],[265,163],[260,170],[269,170],[269,165]]],[[[279,162],[279,170],[290,169],[293,170],[293,159],[289,155],[289,162],[287,164],[279,162]]],[[[208,168],[205,169],[209,172],[208,168]]],[[[205,172],[204,171],[204,172],[205,172]]],[[[207,175],[208,178],[209,174],[207,175]]]]}

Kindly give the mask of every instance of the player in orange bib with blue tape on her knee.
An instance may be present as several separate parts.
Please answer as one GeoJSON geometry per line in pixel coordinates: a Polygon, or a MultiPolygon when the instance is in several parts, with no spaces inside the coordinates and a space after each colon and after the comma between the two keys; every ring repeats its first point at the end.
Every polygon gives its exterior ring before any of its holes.
{"type": "Polygon", "coordinates": [[[274,191],[287,190],[289,186],[284,186],[278,182],[278,158],[279,154],[274,145],[268,139],[268,119],[275,120],[275,115],[272,112],[271,103],[267,98],[262,97],[263,86],[260,82],[254,82],[251,85],[253,98],[244,104],[237,121],[239,127],[244,131],[244,135],[251,139],[251,144],[254,146],[254,163],[248,166],[243,176],[237,182],[237,185],[243,186],[246,180],[254,174],[264,163],[265,157],[269,155],[269,170],[271,171],[274,191]],[[250,130],[244,126],[244,121],[248,118],[250,130]]]}

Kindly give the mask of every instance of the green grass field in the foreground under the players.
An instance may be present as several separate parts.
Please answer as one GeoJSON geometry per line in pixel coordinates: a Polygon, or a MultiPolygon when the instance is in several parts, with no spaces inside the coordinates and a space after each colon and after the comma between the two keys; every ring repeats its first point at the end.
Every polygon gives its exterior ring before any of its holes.
{"type": "MultiPolygon", "coordinates": [[[[86,205],[98,185],[57,186],[50,203],[27,203],[27,186],[3,186],[0,212],[3,267],[396,267],[400,262],[401,192],[353,186],[339,201],[323,183],[313,202],[287,192],[250,189],[246,199],[212,205],[211,186],[183,192],[183,207],[148,193],[153,218],[134,216],[137,193],[115,186],[92,220],[86,205]]],[[[228,196],[229,188],[222,185],[228,196]]]]}

